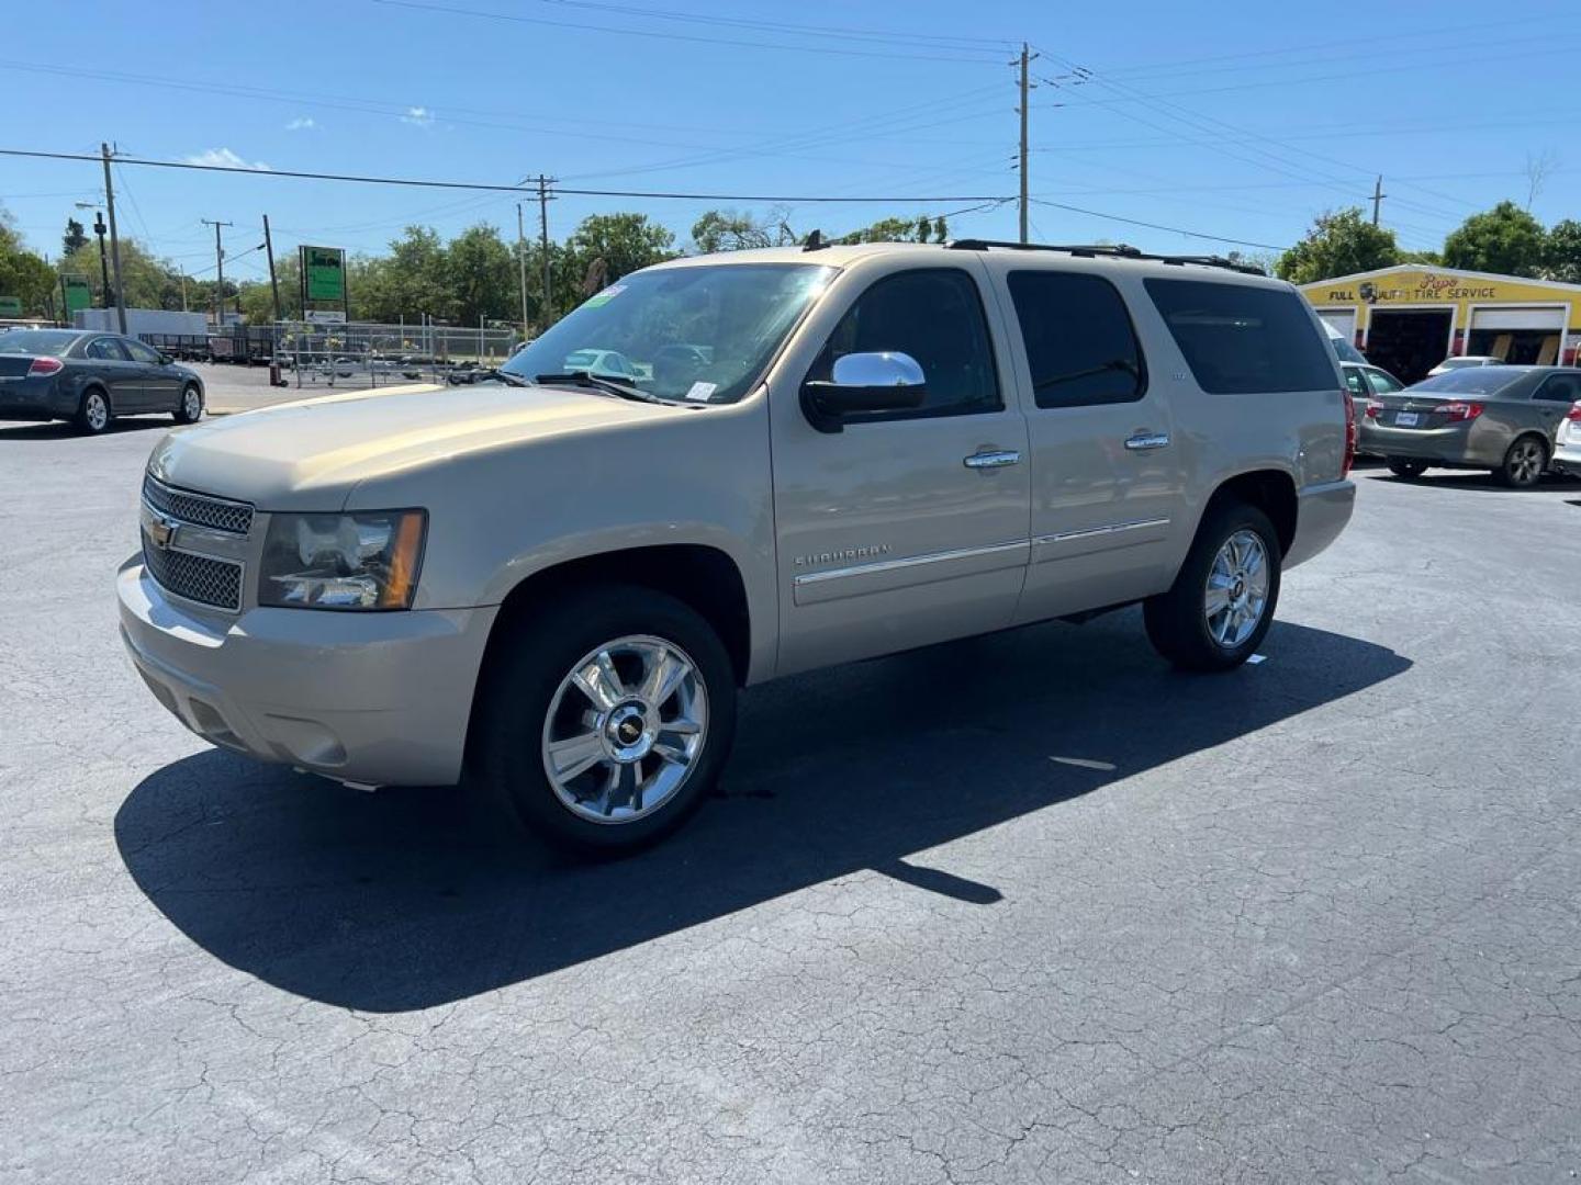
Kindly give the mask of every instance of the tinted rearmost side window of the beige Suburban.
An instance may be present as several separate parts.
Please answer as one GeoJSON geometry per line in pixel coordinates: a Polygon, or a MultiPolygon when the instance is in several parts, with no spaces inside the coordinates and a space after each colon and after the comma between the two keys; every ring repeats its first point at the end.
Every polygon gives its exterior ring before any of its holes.
{"type": "Polygon", "coordinates": [[[1213,395],[1323,390],[1333,356],[1293,291],[1211,280],[1146,280],[1197,386],[1213,395]]]}

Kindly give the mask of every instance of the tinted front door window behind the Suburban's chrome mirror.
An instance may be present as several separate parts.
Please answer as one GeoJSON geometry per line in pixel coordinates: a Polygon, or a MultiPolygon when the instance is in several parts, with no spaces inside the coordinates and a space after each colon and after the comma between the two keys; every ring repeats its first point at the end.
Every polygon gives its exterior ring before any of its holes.
{"type": "Polygon", "coordinates": [[[852,416],[847,423],[996,411],[999,381],[977,284],[957,267],[896,272],[857,297],[835,325],[808,379],[827,381],[846,354],[911,354],[928,381],[915,411],[852,416]]]}

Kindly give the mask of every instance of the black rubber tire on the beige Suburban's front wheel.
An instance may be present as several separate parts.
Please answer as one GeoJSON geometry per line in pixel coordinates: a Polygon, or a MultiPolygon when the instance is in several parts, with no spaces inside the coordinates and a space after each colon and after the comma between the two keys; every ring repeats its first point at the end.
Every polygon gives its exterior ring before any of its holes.
{"type": "MultiPolygon", "coordinates": [[[[470,773],[481,792],[504,803],[550,847],[604,856],[628,855],[658,842],[702,806],[735,736],[735,675],[724,643],[697,611],[664,592],[609,585],[579,589],[534,608],[508,630],[490,649],[474,709],[470,773]],[[566,700],[555,722],[549,720],[550,709],[561,681],[579,662],[615,640],[632,637],[656,638],[691,660],[704,687],[705,728],[689,769],[659,806],[626,822],[591,822],[564,803],[550,781],[545,728],[563,720],[566,700]]],[[[591,708],[587,700],[579,703],[591,708]]],[[[577,727],[606,736],[609,725],[604,722],[613,713],[599,713],[594,720],[588,720],[590,714],[582,713],[583,724],[577,727]]],[[[650,754],[624,769],[642,776],[651,768],[648,762],[656,760],[650,754]]],[[[591,766],[585,777],[598,779],[613,768],[606,762],[591,766]]]]}

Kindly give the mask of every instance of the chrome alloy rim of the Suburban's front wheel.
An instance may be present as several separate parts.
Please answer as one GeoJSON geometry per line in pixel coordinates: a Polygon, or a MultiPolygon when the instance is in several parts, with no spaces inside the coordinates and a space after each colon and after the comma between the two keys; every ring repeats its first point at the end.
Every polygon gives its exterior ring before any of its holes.
{"type": "Polygon", "coordinates": [[[591,649],[560,681],[544,719],[544,773],[561,806],[591,823],[632,823],[669,803],[708,738],[697,664],[645,634],[591,649]]]}

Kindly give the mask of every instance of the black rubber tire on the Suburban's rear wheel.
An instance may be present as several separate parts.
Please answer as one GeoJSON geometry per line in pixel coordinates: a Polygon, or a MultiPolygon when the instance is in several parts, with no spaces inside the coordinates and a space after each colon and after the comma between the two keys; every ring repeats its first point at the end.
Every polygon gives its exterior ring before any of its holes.
{"type": "MultiPolygon", "coordinates": [[[[1175,577],[1168,592],[1149,597],[1143,604],[1143,619],[1148,626],[1148,640],[1179,670],[1192,672],[1225,672],[1240,667],[1262,645],[1268,627],[1273,624],[1274,610],[1279,605],[1279,566],[1282,561],[1279,536],[1268,515],[1255,506],[1246,502],[1219,502],[1209,506],[1197,528],[1186,562],[1175,577]],[[1209,629],[1206,613],[1208,578],[1214,570],[1221,550],[1228,540],[1243,531],[1249,531],[1262,542],[1263,564],[1266,566],[1266,589],[1260,616],[1255,618],[1251,632],[1236,637],[1233,643],[1221,641],[1209,629]]],[[[1251,585],[1236,575],[1238,583],[1232,589],[1246,589],[1251,585]]],[[[1235,604],[1232,600],[1232,604],[1235,604]]],[[[1252,602],[1243,602],[1251,608],[1252,602]]],[[[1233,637],[1233,635],[1232,635],[1233,637]]]]}

